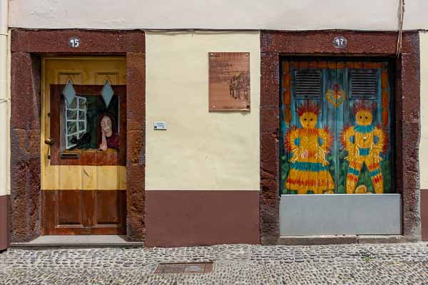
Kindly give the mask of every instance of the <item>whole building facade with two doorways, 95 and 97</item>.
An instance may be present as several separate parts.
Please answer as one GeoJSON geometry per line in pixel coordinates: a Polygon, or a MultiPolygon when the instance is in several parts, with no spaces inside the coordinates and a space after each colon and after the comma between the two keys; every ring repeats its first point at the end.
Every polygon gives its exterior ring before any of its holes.
{"type": "Polygon", "coordinates": [[[2,0],[0,249],[428,240],[427,4],[282,2],[2,0]]]}

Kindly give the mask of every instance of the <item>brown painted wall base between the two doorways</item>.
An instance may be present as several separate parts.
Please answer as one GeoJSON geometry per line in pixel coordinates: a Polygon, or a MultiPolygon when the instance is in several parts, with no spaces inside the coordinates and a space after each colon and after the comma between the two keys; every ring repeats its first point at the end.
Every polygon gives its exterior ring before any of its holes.
{"type": "Polygon", "coordinates": [[[146,246],[260,244],[258,191],[146,191],[146,246]]]}

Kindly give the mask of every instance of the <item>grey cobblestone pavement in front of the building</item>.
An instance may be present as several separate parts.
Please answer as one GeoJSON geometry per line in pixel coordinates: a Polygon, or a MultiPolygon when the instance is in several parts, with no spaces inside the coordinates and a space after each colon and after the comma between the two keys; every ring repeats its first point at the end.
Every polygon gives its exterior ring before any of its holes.
{"type": "Polygon", "coordinates": [[[428,244],[9,249],[0,284],[426,284],[428,244]],[[214,261],[210,274],[153,274],[214,261]]]}

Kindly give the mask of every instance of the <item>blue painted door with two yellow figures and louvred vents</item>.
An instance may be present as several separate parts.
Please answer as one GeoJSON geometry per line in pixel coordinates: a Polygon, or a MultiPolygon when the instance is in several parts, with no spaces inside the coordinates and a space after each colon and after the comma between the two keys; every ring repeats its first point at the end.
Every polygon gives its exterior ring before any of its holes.
{"type": "Polygon", "coordinates": [[[281,194],[394,192],[388,63],[285,60],[281,73],[281,194]]]}

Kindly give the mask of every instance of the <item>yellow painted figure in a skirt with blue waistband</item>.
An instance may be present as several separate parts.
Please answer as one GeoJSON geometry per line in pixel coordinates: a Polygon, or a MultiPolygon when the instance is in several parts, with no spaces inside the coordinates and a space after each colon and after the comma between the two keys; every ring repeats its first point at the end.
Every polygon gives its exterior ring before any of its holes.
{"type": "Polygon", "coordinates": [[[316,128],[319,113],[318,105],[305,101],[297,108],[302,128],[290,128],[285,138],[285,147],[292,154],[285,187],[296,190],[297,194],[307,194],[308,190],[314,194],[335,190],[326,159],[332,138],[327,128],[316,128]]]}

